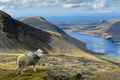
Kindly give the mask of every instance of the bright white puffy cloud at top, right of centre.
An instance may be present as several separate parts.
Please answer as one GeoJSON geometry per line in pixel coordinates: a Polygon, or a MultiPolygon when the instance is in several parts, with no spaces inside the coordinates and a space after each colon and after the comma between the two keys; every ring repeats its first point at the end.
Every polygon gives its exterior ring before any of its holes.
{"type": "Polygon", "coordinates": [[[84,0],[81,2],[74,2],[74,3],[65,3],[63,4],[64,8],[80,8],[80,9],[91,9],[91,10],[101,10],[101,9],[105,9],[106,7],[106,1],[105,0],[84,0]]]}

